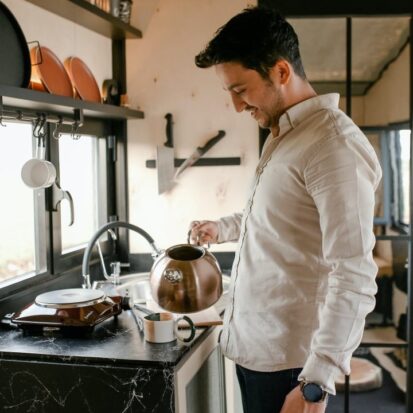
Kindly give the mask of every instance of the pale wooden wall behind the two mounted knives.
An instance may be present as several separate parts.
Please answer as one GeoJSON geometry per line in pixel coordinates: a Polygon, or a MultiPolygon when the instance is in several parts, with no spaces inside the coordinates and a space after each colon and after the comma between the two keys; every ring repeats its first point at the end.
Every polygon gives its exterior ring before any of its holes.
{"type": "MultiPolygon", "coordinates": [[[[247,7],[246,0],[160,0],[146,11],[143,39],[127,41],[128,95],[145,119],[128,122],[130,222],[146,229],[161,247],[186,240],[191,219],[216,219],[241,210],[258,161],[258,126],[237,114],[214,69],[198,69],[195,55],[215,30],[247,7]],[[147,19],[150,18],[149,22],[147,19]],[[156,145],[165,141],[166,113],[174,116],[175,155],[186,158],[197,147],[226,132],[206,156],[241,157],[241,166],[186,170],[170,193],[158,195],[156,145]]],[[[134,15],[139,12],[137,7],[134,15]]],[[[133,252],[148,252],[131,237],[133,252]]],[[[228,244],[213,250],[230,250],[228,244]]]]}

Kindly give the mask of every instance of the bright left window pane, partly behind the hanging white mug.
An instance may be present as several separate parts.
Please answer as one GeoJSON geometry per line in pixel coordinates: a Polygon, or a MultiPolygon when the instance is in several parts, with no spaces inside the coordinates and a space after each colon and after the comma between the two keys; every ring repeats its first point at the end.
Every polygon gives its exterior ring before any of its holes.
{"type": "Polygon", "coordinates": [[[26,187],[23,164],[34,156],[32,125],[0,126],[0,283],[45,270],[44,189],[26,187]]]}

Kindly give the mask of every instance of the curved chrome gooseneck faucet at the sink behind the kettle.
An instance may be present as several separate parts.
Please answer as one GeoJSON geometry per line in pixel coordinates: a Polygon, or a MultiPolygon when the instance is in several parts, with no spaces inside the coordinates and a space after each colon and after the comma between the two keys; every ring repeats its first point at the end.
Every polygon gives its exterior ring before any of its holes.
{"type": "MultiPolygon", "coordinates": [[[[135,231],[138,234],[142,235],[148,241],[149,245],[152,247],[152,249],[153,249],[152,256],[154,258],[158,257],[163,252],[162,250],[160,250],[155,245],[155,241],[153,240],[153,238],[146,231],[144,231],[142,228],[139,228],[136,225],[132,225],[132,224],[129,224],[128,222],[124,222],[124,221],[108,222],[107,224],[100,227],[96,231],[96,233],[92,236],[91,240],[89,241],[89,243],[88,243],[88,245],[85,249],[85,253],[83,254],[83,261],[82,261],[82,277],[83,277],[82,287],[83,288],[91,288],[90,274],[89,274],[89,261],[90,261],[90,256],[91,256],[93,247],[95,246],[96,243],[98,244],[99,255],[100,255],[100,258],[101,258],[101,262],[103,262],[102,251],[100,249],[100,245],[99,245],[98,240],[99,240],[100,236],[105,231],[108,231],[111,234],[112,238],[113,238],[113,235],[115,235],[115,233],[112,230],[113,228],[126,228],[126,229],[135,231]]],[[[117,239],[116,235],[115,235],[114,239],[117,239]]],[[[117,266],[115,266],[114,271],[117,270],[116,267],[117,266]]],[[[109,276],[107,275],[104,263],[103,263],[103,268],[104,268],[103,273],[105,275],[105,278],[109,278],[109,276]]]]}

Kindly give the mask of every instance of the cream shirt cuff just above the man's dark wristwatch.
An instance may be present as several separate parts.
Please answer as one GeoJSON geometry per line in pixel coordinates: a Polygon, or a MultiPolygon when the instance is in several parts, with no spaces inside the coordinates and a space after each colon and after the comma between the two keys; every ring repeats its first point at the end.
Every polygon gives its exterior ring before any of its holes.
{"type": "Polygon", "coordinates": [[[340,373],[341,370],[337,366],[313,353],[307,359],[301,374],[298,376],[298,380],[317,383],[327,393],[335,395],[335,381],[340,373]]]}

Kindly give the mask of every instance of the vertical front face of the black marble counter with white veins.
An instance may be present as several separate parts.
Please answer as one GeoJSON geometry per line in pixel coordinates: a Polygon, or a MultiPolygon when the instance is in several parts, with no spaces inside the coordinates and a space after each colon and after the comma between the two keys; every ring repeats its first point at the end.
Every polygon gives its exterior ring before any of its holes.
{"type": "Polygon", "coordinates": [[[8,412],[173,412],[173,369],[79,368],[0,361],[8,412]]]}

